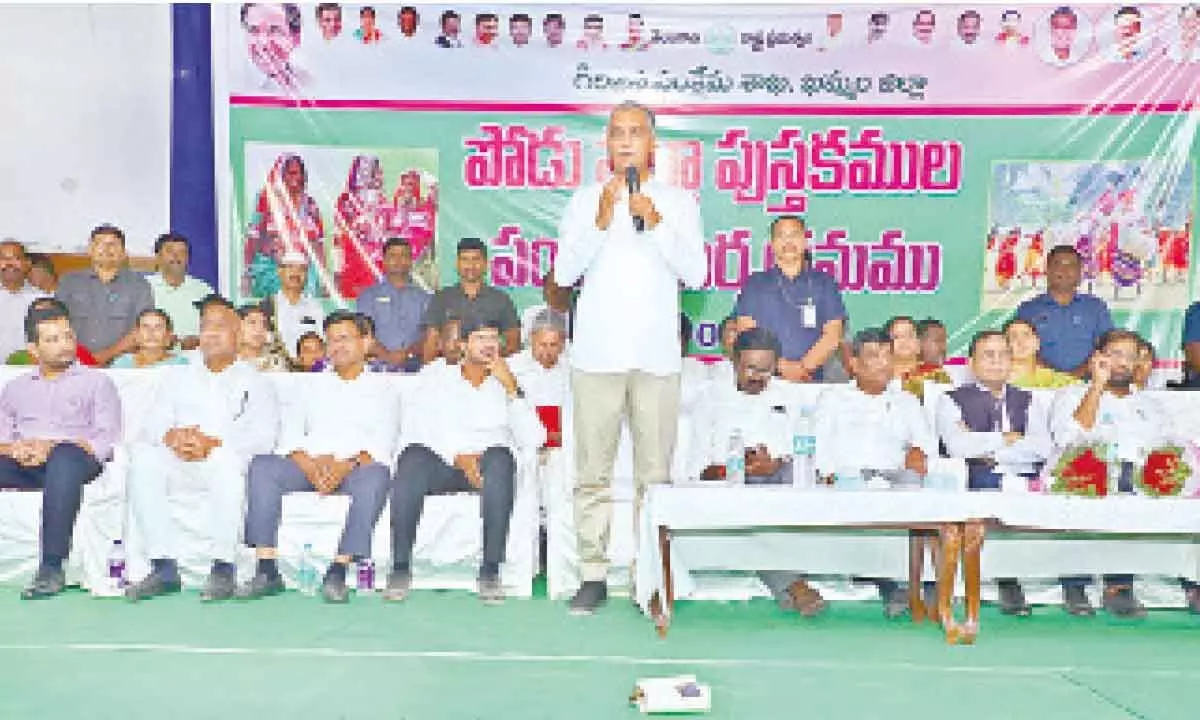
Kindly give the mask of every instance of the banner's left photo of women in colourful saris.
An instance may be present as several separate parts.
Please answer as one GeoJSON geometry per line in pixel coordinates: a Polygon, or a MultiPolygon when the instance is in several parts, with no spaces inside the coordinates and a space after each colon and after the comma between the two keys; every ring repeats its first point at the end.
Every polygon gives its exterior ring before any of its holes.
{"type": "Polygon", "coordinates": [[[307,296],[358,298],[383,275],[389,238],[408,241],[413,282],[437,289],[436,150],[247,143],[245,168],[240,299],[275,294],[282,258],[298,253],[308,263],[307,296]]]}

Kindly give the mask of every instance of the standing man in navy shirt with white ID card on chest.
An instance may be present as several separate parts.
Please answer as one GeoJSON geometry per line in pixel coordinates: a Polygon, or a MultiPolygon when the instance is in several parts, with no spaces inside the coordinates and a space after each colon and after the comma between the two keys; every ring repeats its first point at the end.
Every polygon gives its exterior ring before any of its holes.
{"type": "Polygon", "coordinates": [[[738,294],[737,331],[770,330],[784,350],[779,376],[793,383],[821,382],[847,319],[838,281],[812,270],[808,227],[799,216],[772,221],[770,250],[775,266],[750,275],[738,294]]]}

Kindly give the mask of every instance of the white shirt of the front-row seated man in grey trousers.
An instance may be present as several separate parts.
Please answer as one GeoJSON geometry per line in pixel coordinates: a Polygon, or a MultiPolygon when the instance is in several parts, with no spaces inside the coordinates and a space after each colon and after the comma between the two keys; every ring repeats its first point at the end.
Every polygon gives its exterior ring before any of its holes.
{"type": "Polygon", "coordinates": [[[400,394],[391,378],[366,370],[353,380],[316,373],[302,388],[282,419],[280,455],[302,450],[344,460],[366,451],[391,467],[400,434],[400,394]]]}

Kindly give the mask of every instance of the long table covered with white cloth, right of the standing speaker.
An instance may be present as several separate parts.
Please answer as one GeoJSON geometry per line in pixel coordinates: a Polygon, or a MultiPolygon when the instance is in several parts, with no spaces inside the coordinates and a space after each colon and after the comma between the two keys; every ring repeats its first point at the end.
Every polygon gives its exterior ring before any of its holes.
{"type": "MultiPolygon", "coordinates": [[[[637,554],[637,601],[649,614],[656,616],[665,630],[670,622],[677,578],[672,575],[672,560],[678,550],[672,540],[678,538],[716,536],[736,533],[742,535],[738,547],[743,552],[730,553],[728,570],[775,569],[778,548],[768,548],[764,556],[776,553],[775,559],[763,557],[751,559],[744,552],[748,542],[745,533],[763,532],[758,538],[781,530],[824,530],[862,534],[871,529],[901,532],[940,532],[948,526],[962,527],[967,523],[988,526],[998,538],[1013,538],[1027,533],[1088,534],[1114,540],[1178,540],[1194,542],[1200,539],[1200,502],[1183,498],[1110,497],[1104,499],[1012,494],[988,492],[937,492],[937,491],[836,491],[797,490],[792,487],[654,487],[647,494],[641,518],[637,554]],[[752,563],[752,564],[751,564],[752,563]],[[655,604],[655,598],[659,602],[655,604]]],[[[1068,535],[1069,536],[1069,535],[1068,535]]],[[[755,538],[755,535],[750,535],[755,538]]],[[[1003,545],[1001,540],[996,545],[1003,545]]],[[[1022,540],[1024,541],[1024,540],[1022,540]]],[[[1069,545],[1056,539],[1056,545],[1069,545]]],[[[990,550],[991,546],[989,546],[990,550]]],[[[1163,553],[1163,574],[1195,578],[1200,577],[1195,545],[1175,544],[1165,546],[1175,552],[1163,553]]],[[[1096,554],[1094,551],[1092,553],[1096,554]]],[[[814,571],[808,557],[797,560],[794,570],[814,571]]],[[[820,568],[820,558],[812,560],[820,568]]],[[[1057,560],[1051,557],[1042,563],[1044,571],[1078,574],[1080,570],[1096,572],[1145,572],[1141,565],[1130,566],[1130,559],[1117,558],[1114,564],[1103,562],[1094,568],[1080,568],[1069,554],[1057,560]]],[[[1140,563],[1140,560],[1139,560],[1140,563]]],[[[1020,563],[1018,563],[1020,564],[1020,563]]],[[[911,558],[908,575],[920,580],[920,558],[911,558]]],[[[677,564],[678,566],[678,564],[677,564]]],[[[720,566],[720,562],[706,568],[720,566]]],[[[779,568],[782,569],[782,568],[779,568]]],[[[847,574],[866,574],[859,568],[841,568],[847,574]]],[[[890,575],[895,575],[894,566],[890,575]]],[[[997,566],[996,570],[1006,570],[997,566]]],[[[1020,575],[1019,572],[1014,572],[1020,575]]],[[[970,578],[968,578],[970,581],[970,578]]],[[[978,595],[978,576],[973,578],[978,595]]],[[[916,593],[917,588],[910,588],[916,593]]],[[[967,588],[968,598],[972,588],[967,588]]]]}

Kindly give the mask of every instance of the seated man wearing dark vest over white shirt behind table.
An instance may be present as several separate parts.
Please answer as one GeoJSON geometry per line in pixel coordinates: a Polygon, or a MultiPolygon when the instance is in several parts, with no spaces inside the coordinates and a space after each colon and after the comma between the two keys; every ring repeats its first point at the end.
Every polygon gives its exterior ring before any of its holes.
{"type": "MultiPolygon", "coordinates": [[[[1030,412],[1033,395],[1008,384],[1013,354],[1000,330],[971,340],[971,372],[976,383],[941,397],[937,431],[950,457],[967,462],[971,490],[998,490],[1006,479],[1036,478],[1050,454],[1050,427],[1044,413],[1030,412]]],[[[1000,611],[1027,616],[1030,604],[1015,578],[998,578],[1000,611]]]]}

